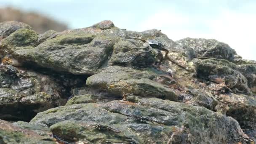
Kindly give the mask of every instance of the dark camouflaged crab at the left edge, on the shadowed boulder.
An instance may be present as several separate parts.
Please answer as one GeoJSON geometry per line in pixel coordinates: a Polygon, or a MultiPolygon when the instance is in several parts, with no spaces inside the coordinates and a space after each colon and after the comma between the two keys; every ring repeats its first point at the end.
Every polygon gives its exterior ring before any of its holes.
{"type": "Polygon", "coordinates": [[[13,78],[16,77],[24,77],[27,78],[28,76],[23,75],[19,69],[13,67],[12,65],[0,64],[0,71],[4,71],[5,73],[11,75],[13,78]]]}

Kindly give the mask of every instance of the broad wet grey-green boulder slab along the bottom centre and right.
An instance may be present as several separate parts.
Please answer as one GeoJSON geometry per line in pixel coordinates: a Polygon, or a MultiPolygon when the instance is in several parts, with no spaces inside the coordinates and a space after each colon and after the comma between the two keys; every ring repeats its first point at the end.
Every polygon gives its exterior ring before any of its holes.
{"type": "Polygon", "coordinates": [[[161,99],[73,104],[30,121],[65,141],[91,143],[235,143],[248,141],[239,124],[202,107],[161,99]]]}

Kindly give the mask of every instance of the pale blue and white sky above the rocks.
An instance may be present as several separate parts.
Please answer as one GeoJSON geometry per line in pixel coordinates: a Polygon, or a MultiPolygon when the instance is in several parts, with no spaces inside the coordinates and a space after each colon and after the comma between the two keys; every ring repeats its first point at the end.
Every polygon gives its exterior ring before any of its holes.
{"type": "Polygon", "coordinates": [[[102,20],[133,31],[161,29],[172,40],[216,39],[256,60],[256,0],[0,0],[83,28],[102,20]]]}

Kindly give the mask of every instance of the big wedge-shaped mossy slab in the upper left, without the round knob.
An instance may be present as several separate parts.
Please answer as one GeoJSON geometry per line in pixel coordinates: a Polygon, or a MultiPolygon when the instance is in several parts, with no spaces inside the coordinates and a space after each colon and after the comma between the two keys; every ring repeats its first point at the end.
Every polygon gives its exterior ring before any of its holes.
{"type": "Polygon", "coordinates": [[[117,40],[118,37],[69,33],[41,43],[27,60],[54,71],[91,75],[107,61],[117,40]]]}

